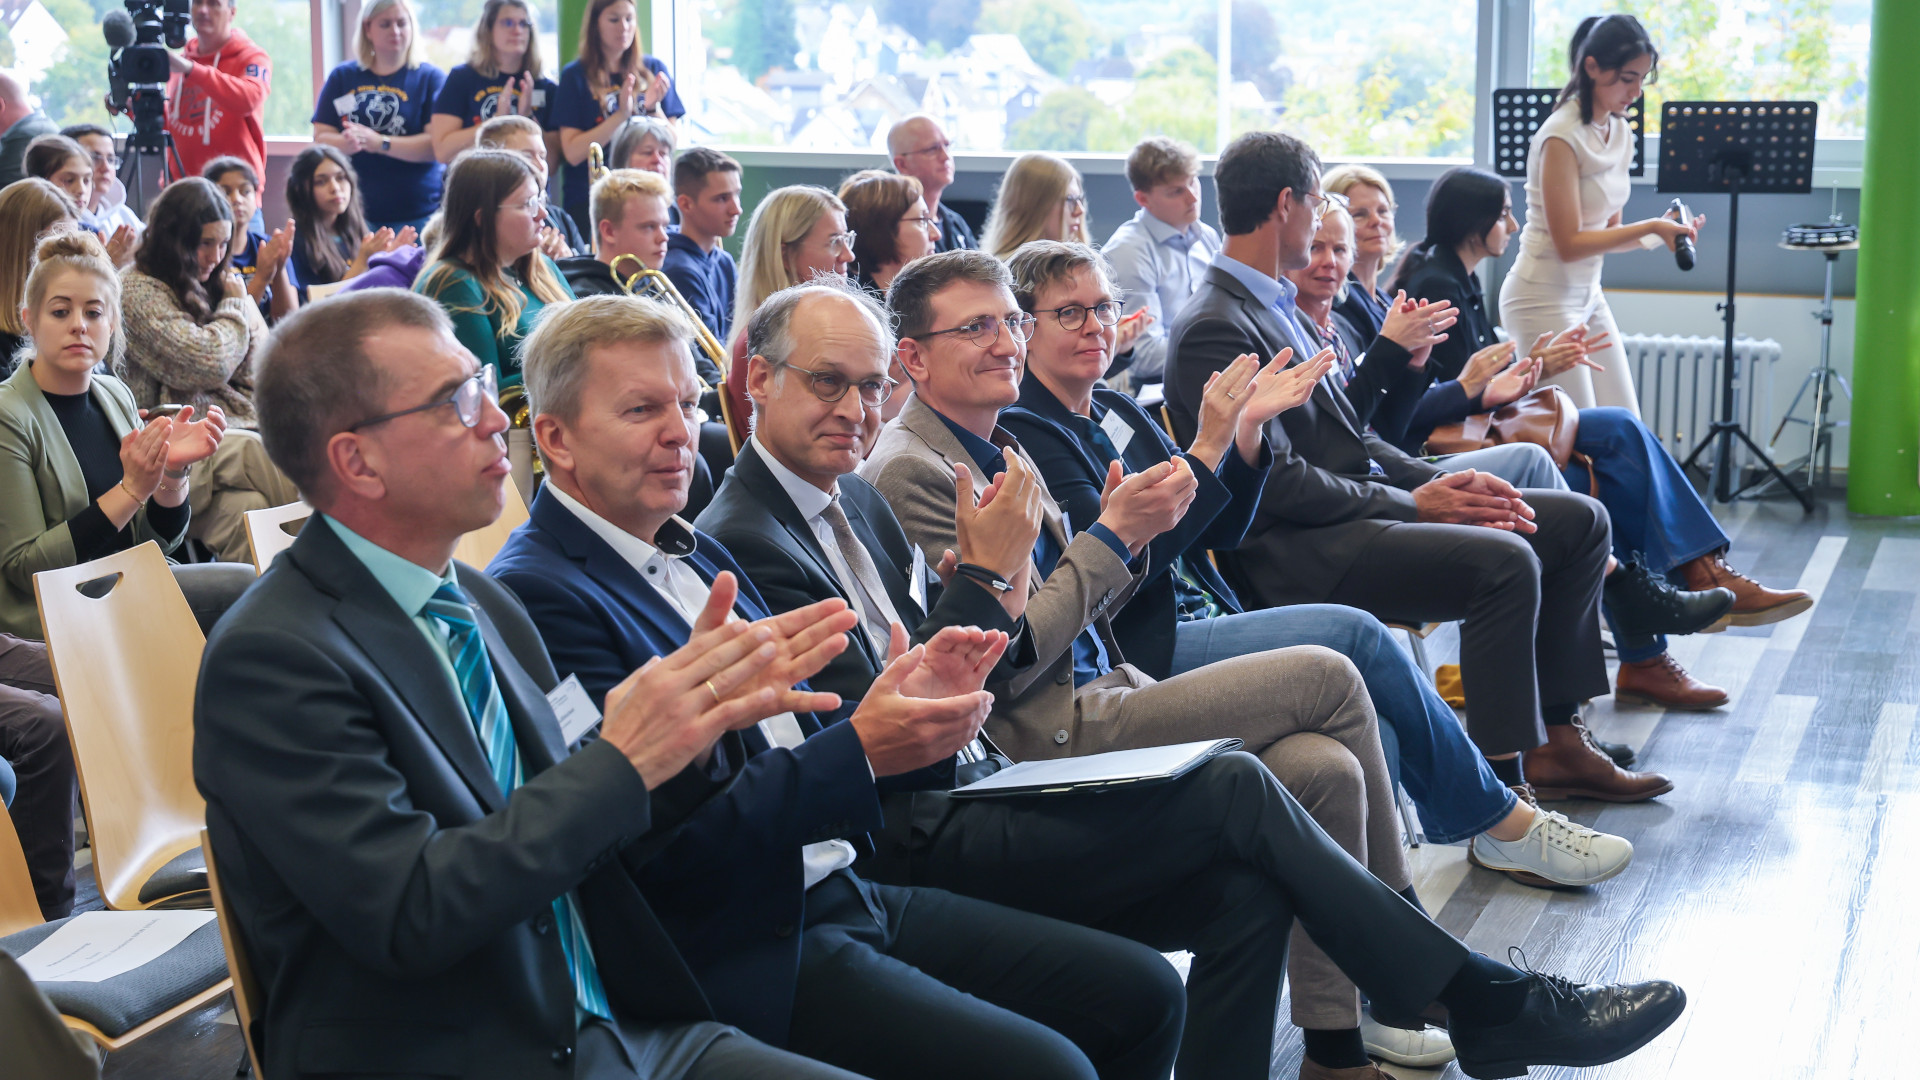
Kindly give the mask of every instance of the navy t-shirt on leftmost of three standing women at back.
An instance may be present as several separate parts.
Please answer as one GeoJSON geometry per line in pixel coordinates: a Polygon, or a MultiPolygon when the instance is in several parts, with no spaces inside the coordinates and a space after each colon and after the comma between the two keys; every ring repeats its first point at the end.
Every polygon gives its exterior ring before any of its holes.
{"type": "MultiPolygon", "coordinates": [[[[313,123],[338,129],[353,121],[390,138],[420,135],[445,81],[445,71],[432,63],[374,75],[349,60],[326,75],[321,100],[313,106],[313,123]]],[[[374,227],[419,221],[440,209],[440,177],[445,171],[440,161],[401,161],[361,150],[353,154],[353,171],[361,179],[367,221],[374,227]]]]}

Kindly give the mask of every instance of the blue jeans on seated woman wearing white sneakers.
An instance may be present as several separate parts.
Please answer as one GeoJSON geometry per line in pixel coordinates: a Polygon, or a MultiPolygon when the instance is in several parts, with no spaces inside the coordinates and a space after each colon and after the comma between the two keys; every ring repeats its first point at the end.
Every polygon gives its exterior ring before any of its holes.
{"type": "Polygon", "coordinates": [[[1486,832],[1513,811],[1515,796],[1467,738],[1392,632],[1373,615],[1338,603],[1265,607],[1181,623],[1173,636],[1173,675],[1288,646],[1327,646],[1354,661],[1380,717],[1400,742],[1400,784],[1421,811],[1434,844],[1486,832]]]}

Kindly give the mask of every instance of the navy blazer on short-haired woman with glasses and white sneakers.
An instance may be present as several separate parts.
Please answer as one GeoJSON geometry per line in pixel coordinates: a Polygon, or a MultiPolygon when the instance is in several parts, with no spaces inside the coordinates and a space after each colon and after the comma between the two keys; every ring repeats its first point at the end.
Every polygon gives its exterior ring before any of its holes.
{"type": "MultiPolygon", "coordinates": [[[[1094,390],[1092,396],[1108,415],[1117,413],[1133,429],[1133,440],[1121,452],[1129,473],[1152,469],[1179,454],[1200,480],[1200,490],[1179,525],[1148,542],[1154,553],[1148,575],[1133,600],[1114,615],[1114,636],[1119,638],[1127,659],[1154,678],[1167,678],[1173,675],[1173,636],[1179,625],[1173,561],[1187,555],[1187,567],[1208,592],[1227,611],[1240,611],[1240,600],[1213,569],[1206,552],[1213,548],[1231,552],[1240,546],[1260,505],[1260,488],[1273,465],[1273,452],[1261,448],[1261,463],[1248,465],[1236,448],[1229,448],[1219,473],[1213,473],[1200,459],[1183,454],[1131,396],[1116,390],[1094,390]]],[[[1014,432],[1014,438],[1027,448],[1027,455],[1046,479],[1046,490],[1069,519],[1092,523],[1100,517],[1100,490],[1106,486],[1108,463],[1098,446],[1081,434],[1079,419],[1046,384],[1027,373],[1020,384],[1020,405],[1000,413],[1000,427],[1014,432]]]]}

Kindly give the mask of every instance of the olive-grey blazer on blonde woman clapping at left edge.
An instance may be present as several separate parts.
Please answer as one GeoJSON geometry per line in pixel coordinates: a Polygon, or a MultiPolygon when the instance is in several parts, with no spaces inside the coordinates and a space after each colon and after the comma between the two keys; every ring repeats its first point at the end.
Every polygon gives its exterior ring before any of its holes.
{"type": "MultiPolygon", "coordinates": [[[[132,392],[111,375],[94,375],[94,402],[113,425],[113,434],[142,427],[132,392]]],[[[0,382],[0,630],[38,640],[40,607],[33,600],[33,575],[71,567],[73,534],[67,521],[86,509],[86,479],[73,455],[60,417],[21,363],[0,382]]],[[[186,538],[161,536],[146,521],[146,505],[132,517],[134,542],[157,540],[171,553],[186,538]]]]}

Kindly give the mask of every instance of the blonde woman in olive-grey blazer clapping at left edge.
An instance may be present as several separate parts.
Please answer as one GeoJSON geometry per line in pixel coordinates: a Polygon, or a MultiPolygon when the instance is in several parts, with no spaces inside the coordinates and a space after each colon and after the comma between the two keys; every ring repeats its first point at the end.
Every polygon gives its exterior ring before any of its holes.
{"type": "Polygon", "coordinates": [[[27,277],[33,348],[0,382],[0,630],[40,636],[33,575],[186,538],[188,469],[227,430],[219,405],[142,421],[98,367],[121,348],[121,281],[90,233],[40,240],[27,277]]]}

